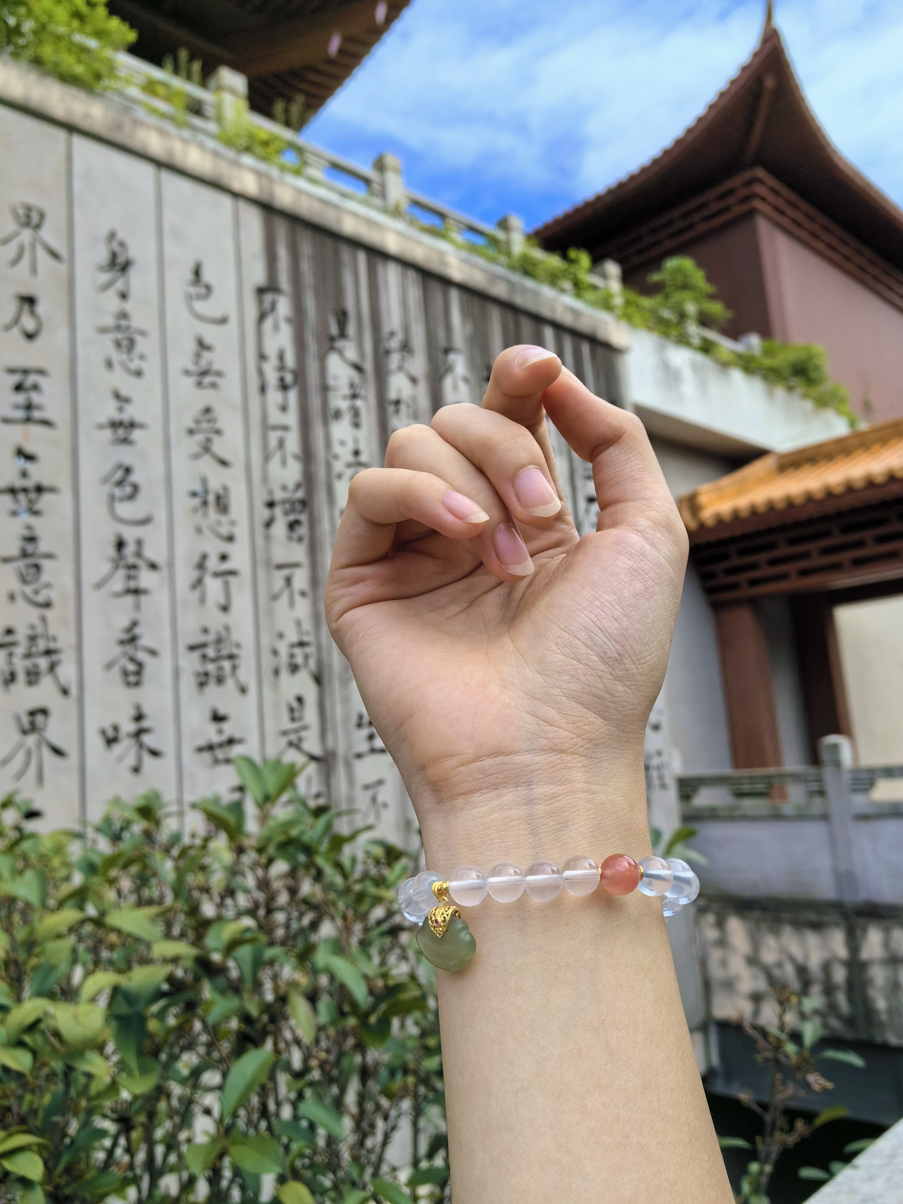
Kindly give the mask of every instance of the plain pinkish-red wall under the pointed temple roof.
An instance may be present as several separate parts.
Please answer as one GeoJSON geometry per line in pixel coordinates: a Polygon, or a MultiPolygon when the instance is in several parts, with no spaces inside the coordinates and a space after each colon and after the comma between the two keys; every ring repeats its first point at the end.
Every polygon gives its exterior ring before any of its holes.
{"type": "Polygon", "coordinates": [[[756,216],[772,332],[820,343],[867,421],[903,414],[903,312],[756,216]]]}

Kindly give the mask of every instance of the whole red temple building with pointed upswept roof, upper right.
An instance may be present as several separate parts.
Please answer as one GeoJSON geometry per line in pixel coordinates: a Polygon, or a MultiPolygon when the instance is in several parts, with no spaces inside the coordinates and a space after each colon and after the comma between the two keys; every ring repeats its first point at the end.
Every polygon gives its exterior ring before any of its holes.
{"type": "Polygon", "coordinates": [[[625,283],[691,255],[725,334],[821,344],[867,421],[903,414],[903,212],[831,143],[769,4],[751,58],[671,146],[535,231],[613,259],[625,283]]]}

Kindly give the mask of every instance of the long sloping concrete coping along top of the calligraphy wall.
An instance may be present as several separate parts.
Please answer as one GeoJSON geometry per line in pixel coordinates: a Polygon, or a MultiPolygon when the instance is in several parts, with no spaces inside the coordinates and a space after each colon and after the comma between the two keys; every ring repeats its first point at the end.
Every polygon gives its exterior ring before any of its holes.
{"type": "Polygon", "coordinates": [[[598,309],[443,244],[360,201],[300,177],[287,177],[194,130],[176,129],[150,114],[137,116],[114,94],[82,92],[33,67],[0,59],[0,102],[278,209],[616,350],[630,346],[628,327],[598,309]]]}

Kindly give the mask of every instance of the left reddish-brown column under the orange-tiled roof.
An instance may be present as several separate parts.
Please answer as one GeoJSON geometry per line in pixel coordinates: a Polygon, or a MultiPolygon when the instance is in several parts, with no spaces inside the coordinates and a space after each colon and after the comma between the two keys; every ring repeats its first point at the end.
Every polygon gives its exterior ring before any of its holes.
{"type": "Polygon", "coordinates": [[[734,769],[784,763],[768,641],[754,602],[715,607],[718,650],[734,769]]]}

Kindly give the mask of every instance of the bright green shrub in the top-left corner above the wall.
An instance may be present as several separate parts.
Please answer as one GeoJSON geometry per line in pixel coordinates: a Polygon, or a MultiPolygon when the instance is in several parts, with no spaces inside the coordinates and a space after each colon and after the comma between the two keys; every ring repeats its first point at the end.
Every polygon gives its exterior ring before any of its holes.
{"type": "Polygon", "coordinates": [[[113,53],[136,36],[106,0],[0,0],[0,54],[79,88],[114,85],[113,53]]]}

